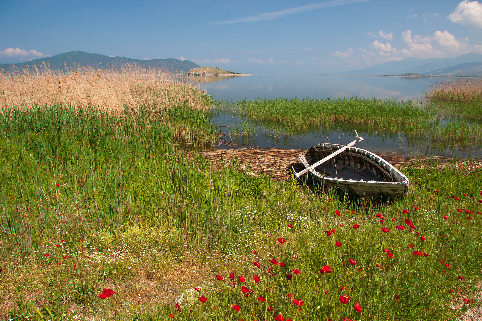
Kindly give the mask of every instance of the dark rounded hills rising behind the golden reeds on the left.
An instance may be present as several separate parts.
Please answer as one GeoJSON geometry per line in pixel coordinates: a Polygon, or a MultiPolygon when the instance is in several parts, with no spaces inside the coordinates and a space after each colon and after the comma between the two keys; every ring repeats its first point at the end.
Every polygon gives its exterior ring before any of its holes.
{"type": "Polygon", "coordinates": [[[140,60],[140,59],[131,59],[126,57],[108,57],[103,54],[89,54],[83,51],[71,51],[65,54],[57,54],[53,57],[45,57],[40,59],[35,59],[33,61],[27,61],[18,64],[0,64],[0,69],[3,68],[5,70],[11,70],[12,66],[15,66],[19,69],[24,69],[27,65],[32,67],[32,62],[35,63],[37,66],[42,65],[42,61],[46,64],[50,63],[51,68],[64,68],[64,63],[67,64],[67,67],[74,67],[74,63],[80,66],[91,66],[91,67],[99,67],[102,68],[112,68],[112,67],[124,67],[128,63],[130,65],[134,65],[141,67],[154,67],[159,69],[164,69],[167,72],[173,73],[186,73],[187,71],[193,68],[199,68],[201,66],[196,65],[192,61],[189,60],[177,60],[173,58],[168,59],[150,59],[150,60],[140,60]],[[100,63],[100,65],[99,65],[100,63]]]}

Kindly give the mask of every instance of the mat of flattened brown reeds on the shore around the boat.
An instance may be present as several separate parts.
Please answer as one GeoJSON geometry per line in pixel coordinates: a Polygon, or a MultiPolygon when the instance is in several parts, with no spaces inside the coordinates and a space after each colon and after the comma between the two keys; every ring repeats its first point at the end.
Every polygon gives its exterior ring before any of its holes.
{"type": "MultiPolygon", "coordinates": [[[[205,151],[203,156],[208,157],[211,166],[214,168],[222,168],[224,166],[234,166],[246,174],[257,176],[259,174],[273,175],[276,180],[290,180],[290,168],[293,166],[297,172],[303,170],[305,166],[301,163],[298,155],[304,149],[278,149],[278,148],[233,148],[218,149],[205,151]]],[[[185,152],[189,154],[188,152],[185,152]]],[[[407,166],[411,163],[417,163],[417,166],[424,166],[424,163],[430,161],[439,161],[441,166],[455,164],[451,159],[444,157],[432,157],[421,159],[416,156],[397,153],[377,154],[381,158],[388,161],[396,168],[407,166]]],[[[482,160],[475,162],[459,162],[457,168],[465,167],[468,171],[474,171],[476,168],[482,167],[482,160]],[[466,163],[464,166],[463,163],[466,163]]]]}

